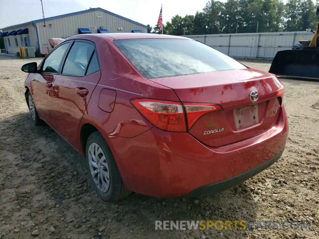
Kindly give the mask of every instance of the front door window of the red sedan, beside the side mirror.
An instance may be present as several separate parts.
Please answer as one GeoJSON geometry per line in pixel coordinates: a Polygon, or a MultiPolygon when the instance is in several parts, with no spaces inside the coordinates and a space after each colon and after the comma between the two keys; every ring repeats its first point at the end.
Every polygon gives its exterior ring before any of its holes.
{"type": "Polygon", "coordinates": [[[67,42],[54,49],[51,54],[48,55],[47,59],[45,59],[42,67],[42,72],[58,73],[59,66],[69,45],[70,42],[67,42]]]}

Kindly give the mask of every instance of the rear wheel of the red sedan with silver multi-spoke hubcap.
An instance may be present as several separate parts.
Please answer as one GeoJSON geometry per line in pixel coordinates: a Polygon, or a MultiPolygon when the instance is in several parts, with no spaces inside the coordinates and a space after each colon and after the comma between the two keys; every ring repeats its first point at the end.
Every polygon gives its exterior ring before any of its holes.
{"type": "Polygon", "coordinates": [[[125,189],[113,154],[100,132],[93,132],[89,136],[85,156],[90,184],[100,199],[115,202],[130,194],[125,189]]]}

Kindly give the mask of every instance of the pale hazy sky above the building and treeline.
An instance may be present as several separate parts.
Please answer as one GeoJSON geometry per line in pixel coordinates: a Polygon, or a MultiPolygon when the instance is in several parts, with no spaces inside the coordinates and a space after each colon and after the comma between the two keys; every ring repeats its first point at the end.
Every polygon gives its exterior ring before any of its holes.
{"type": "MultiPolygon", "coordinates": [[[[223,0],[224,2],[226,0],[223,0]]],[[[42,0],[46,18],[100,7],[144,25],[156,25],[161,4],[163,22],[176,14],[194,15],[202,11],[208,0],[42,0]]],[[[0,0],[0,29],[42,18],[40,0],[0,0]]]]}

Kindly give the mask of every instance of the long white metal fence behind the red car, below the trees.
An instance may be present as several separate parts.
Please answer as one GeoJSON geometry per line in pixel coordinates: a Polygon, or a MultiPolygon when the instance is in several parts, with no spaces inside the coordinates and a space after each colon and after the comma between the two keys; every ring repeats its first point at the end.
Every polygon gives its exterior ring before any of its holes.
{"type": "Polygon", "coordinates": [[[289,50],[300,40],[311,40],[313,33],[238,33],[190,35],[191,39],[203,42],[233,57],[274,58],[278,51],[289,50]]]}

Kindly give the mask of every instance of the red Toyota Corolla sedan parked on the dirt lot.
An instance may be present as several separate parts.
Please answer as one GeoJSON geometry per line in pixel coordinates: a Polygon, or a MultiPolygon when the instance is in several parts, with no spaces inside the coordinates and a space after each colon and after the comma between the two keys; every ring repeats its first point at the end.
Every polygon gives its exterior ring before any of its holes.
{"type": "Polygon", "coordinates": [[[286,145],[278,78],[196,40],[77,35],[21,69],[34,124],[85,156],[103,200],[215,193],[269,167],[286,145]]]}

